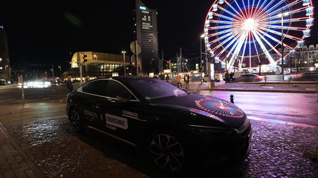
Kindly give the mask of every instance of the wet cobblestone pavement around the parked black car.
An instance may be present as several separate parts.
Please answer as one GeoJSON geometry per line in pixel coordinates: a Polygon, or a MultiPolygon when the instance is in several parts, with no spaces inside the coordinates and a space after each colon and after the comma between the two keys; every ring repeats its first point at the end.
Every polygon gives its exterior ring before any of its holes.
{"type": "MultiPolygon", "coordinates": [[[[318,151],[318,128],[251,123],[252,149],[242,165],[197,164],[183,177],[317,177],[317,156],[311,151],[318,151]]],[[[65,117],[7,130],[47,177],[169,177],[150,165],[143,151],[100,133],[78,135],[65,117]]],[[[0,177],[12,177],[5,174],[2,159],[0,177]]]]}

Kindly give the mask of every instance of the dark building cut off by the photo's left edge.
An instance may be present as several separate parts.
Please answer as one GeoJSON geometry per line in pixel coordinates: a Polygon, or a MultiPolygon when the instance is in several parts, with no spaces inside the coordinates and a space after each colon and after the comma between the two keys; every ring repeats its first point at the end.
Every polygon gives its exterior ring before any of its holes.
{"type": "Polygon", "coordinates": [[[0,26],[0,84],[9,84],[11,82],[10,73],[8,38],[5,30],[0,26]]]}

